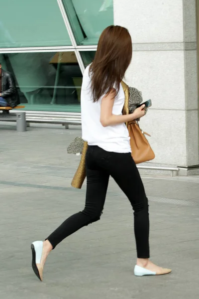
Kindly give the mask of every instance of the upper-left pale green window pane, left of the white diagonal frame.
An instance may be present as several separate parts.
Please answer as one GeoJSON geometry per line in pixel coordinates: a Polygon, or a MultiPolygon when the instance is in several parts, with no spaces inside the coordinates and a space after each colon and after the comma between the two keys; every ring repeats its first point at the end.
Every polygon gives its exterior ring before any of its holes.
{"type": "Polygon", "coordinates": [[[1,2],[1,48],[71,45],[56,0],[1,2]]]}

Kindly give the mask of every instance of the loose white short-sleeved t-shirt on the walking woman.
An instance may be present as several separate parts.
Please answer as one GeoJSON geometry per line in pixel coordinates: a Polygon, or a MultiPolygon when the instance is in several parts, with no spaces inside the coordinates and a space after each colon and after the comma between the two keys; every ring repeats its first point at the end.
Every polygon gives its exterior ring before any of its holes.
{"type": "MultiPolygon", "coordinates": [[[[100,123],[101,99],[93,102],[89,67],[85,70],[81,91],[82,138],[89,146],[98,146],[106,151],[131,152],[130,138],[126,125],[103,127],[100,123]]],[[[114,99],[112,114],[122,115],[124,91],[120,84],[119,92],[114,99]]]]}

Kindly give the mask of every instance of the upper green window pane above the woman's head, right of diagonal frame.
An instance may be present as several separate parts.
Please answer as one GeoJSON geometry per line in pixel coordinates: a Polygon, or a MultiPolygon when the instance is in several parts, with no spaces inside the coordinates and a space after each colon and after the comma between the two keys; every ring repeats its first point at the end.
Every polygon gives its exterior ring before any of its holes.
{"type": "Polygon", "coordinates": [[[97,45],[104,28],[113,24],[113,0],[63,0],[79,45],[97,45]]]}

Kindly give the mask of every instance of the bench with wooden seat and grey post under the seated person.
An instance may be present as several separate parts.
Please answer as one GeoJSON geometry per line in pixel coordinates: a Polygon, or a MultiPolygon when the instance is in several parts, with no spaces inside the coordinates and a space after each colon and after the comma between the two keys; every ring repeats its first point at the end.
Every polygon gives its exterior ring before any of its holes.
{"type": "Polygon", "coordinates": [[[24,111],[14,111],[17,109],[23,109],[25,106],[16,106],[14,108],[11,107],[0,107],[0,121],[2,122],[16,122],[16,131],[17,132],[25,132],[26,131],[26,119],[25,119],[25,112],[24,111]],[[11,114],[9,113],[10,110],[13,110],[11,114]]]}

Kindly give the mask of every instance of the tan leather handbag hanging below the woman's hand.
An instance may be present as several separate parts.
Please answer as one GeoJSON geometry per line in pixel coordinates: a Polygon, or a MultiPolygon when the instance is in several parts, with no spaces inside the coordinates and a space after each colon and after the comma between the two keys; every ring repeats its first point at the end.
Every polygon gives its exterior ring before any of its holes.
{"type": "Polygon", "coordinates": [[[133,121],[128,123],[128,132],[130,136],[132,157],[135,163],[139,164],[154,159],[155,154],[145,137],[145,135],[150,135],[140,129],[138,122],[133,121]]]}

